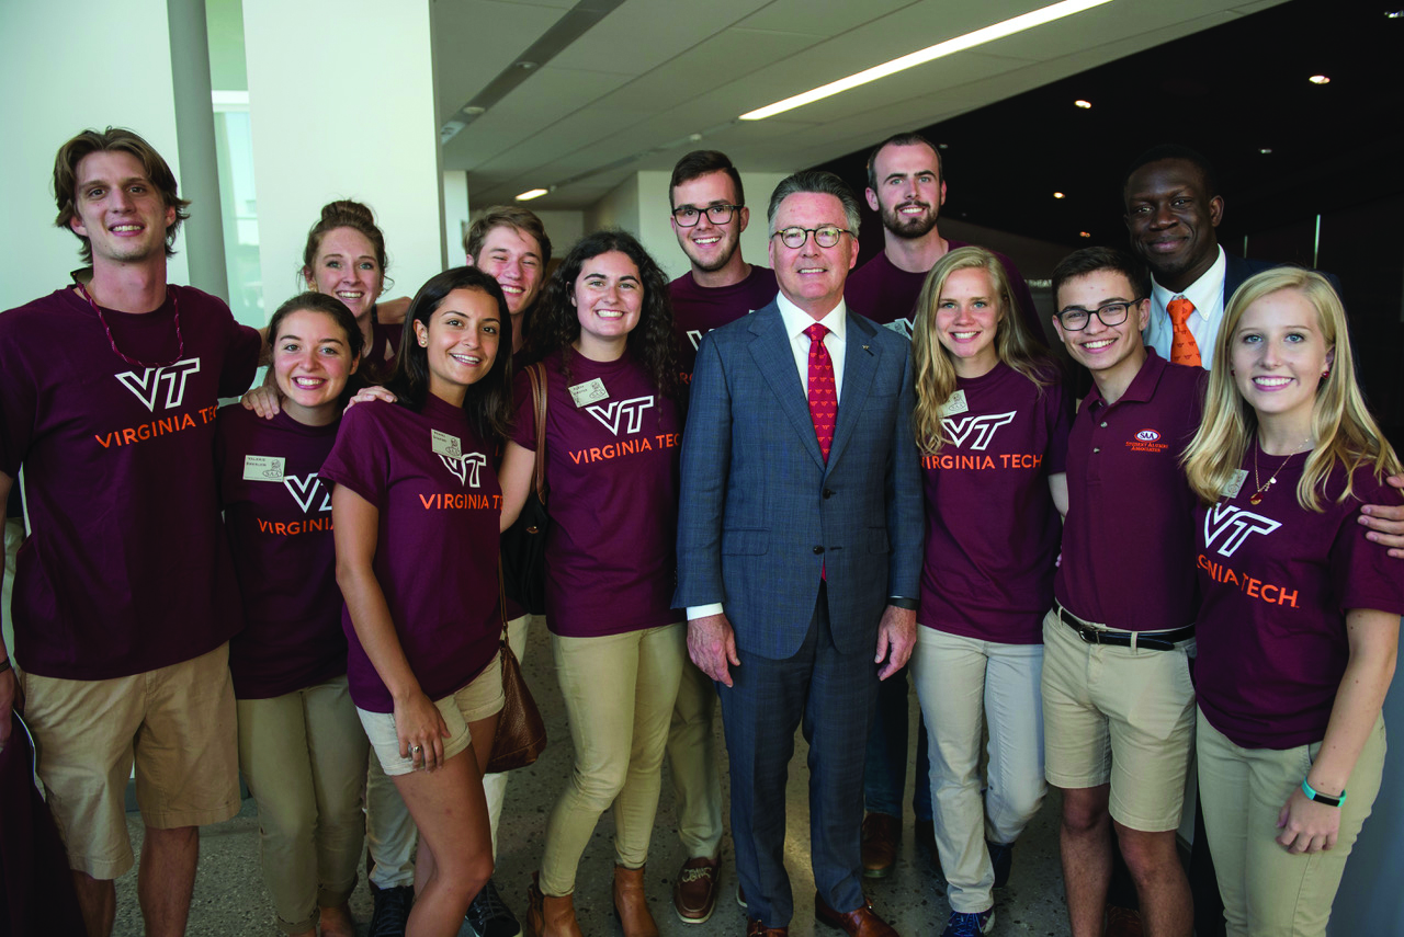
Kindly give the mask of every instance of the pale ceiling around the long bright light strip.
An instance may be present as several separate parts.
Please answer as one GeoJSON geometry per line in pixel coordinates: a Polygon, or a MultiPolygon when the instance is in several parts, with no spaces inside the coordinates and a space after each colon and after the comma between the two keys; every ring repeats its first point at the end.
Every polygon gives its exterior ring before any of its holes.
{"type": "MultiPolygon", "coordinates": [[[[724,150],[747,171],[790,171],[1280,0],[1112,0],[767,121],[736,119],[1049,1],[623,0],[451,139],[444,168],[468,170],[479,205],[559,185],[532,202],[539,209],[585,208],[630,173],[671,170],[689,149],[724,150]]],[[[441,125],[463,119],[463,105],[564,14],[591,7],[435,0],[441,125]]]]}

